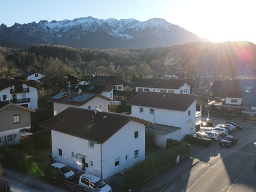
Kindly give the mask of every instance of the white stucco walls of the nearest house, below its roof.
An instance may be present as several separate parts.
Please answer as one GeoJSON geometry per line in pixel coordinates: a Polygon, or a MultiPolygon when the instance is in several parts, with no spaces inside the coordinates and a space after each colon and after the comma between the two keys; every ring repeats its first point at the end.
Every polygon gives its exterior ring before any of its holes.
{"type": "Polygon", "coordinates": [[[55,161],[81,170],[81,159],[72,157],[72,151],[74,154],[86,155],[86,163],[88,163],[86,172],[97,172],[98,177],[106,179],[145,159],[145,126],[131,121],[104,144],[94,144],[94,148],[90,148],[88,143],[88,140],[52,130],[52,157],[55,161]],[[139,131],[139,138],[134,139],[134,131],[139,131]],[[58,155],[58,149],[62,150],[62,156],[58,155]],[[134,159],[135,150],[139,150],[136,159],[134,159]],[[115,159],[119,157],[120,165],[115,166],[115,159]],[[93,167],[90,166],[90,161],[93,161],[93,167]]]}

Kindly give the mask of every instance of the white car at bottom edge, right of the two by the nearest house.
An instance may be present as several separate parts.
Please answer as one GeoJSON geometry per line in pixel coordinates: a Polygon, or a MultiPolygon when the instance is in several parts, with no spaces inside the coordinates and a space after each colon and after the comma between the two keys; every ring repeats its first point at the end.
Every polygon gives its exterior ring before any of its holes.
{"type": "Polygon", "coordinates": [[[111,186],[106,184],[101,178],[91,173],[84,173],[83,175],[81,175],[78,184],[90,190],[99,189],[101,192],[112,191],[111,186]]]}

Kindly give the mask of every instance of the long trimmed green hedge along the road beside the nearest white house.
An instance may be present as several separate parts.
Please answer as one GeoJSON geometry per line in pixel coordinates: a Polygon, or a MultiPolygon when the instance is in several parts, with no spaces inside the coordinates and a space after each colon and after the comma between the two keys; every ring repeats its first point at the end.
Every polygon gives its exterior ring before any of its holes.
{"type": "MultiPolygon", "coordinates": [[[[176,163],[178,155],[183,157],[190,154],[191,147],[189,144],[182,141],[168,142],[173,143],[175,147],[170,147],[165,151],[159,152],[157,155],[145,159],[145,161],[138,162],[133,166],[133,168],[127,170],[123,178],[124,189],[133,189],[139,184],[157,175],[162,170],[169,168],[176,163]],[[177,145],[178,143],[179,145],[177,145]]],[[[168,145],[170,145],[170,143],[168,145]]]]}

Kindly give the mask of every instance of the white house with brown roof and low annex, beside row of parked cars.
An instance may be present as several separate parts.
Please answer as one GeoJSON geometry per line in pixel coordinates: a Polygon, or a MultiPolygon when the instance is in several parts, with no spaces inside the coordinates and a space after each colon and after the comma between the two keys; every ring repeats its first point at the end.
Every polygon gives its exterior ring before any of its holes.
{"type": "MultiPolygon", "coordinates": [[[[155,144],[161,143],[158,146],[164,148],[167,138],[180,141],[186,134],[195,133],[196,103],[195,95],[140,92],[127,105],[131,105],[132,116],[161,125],[157,127],[158,134],[162,131],[168,136],[159,141],[159,135],[155,134],[154,140],[155,144]]],[[[151,133],[154,131],[151,129],[151,133]]]]}

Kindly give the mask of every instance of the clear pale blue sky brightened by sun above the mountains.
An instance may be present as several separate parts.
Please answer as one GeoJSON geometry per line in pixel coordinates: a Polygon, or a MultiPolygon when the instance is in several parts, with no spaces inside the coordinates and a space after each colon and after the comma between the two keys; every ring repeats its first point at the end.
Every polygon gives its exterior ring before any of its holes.
{"type": "Polygon", "coordinates": [[[0,0],[0,24],[87,16],[141,22],[161,18],[212,42],[256,44],[255,5],[255,0],[0,0]]]}

